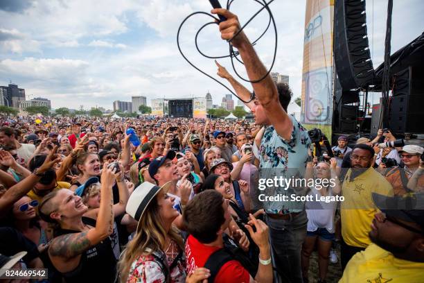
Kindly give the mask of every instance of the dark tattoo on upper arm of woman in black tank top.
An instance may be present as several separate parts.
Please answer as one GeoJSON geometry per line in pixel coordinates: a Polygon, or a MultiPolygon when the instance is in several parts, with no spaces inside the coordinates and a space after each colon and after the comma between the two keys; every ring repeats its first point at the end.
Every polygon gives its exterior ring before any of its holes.
{"type": "Polygon", "coordinates": [[[88,231],[80,233],[71,233],[58,237],[53,241],[48,252],[53,257],[72,258],[81,255],[91,246],[87,239],[88,231]]]}

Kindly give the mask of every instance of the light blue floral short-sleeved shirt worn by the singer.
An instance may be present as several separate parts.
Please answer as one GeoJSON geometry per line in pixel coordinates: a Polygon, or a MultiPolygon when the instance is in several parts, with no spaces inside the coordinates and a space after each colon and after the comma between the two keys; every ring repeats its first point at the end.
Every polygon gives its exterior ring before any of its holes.
{"type": "MultiPolygon", "coordinates": [[[[267,126],[260,141],[259,148],[259,178],[284,178],[287,181],[303,178],[308,160],[310,138],[308,130],[296,121],[292,115],[293,130],[290,141],[285,140],[276,132],[274,126],[267,126]]],[[[294,182],[294,181],[292,181],[294,182]]],[[[281,184],[281,183],[280,183],[281,184]]],[[[270,186],[261,191],[265,196],[288,196],[288,201],[263,201],[263,207],[270,214],[284,214],[301,212],[304,209],[302,202],[290,201],[290,195],[296,194],[296,186],[270,186]]]]}

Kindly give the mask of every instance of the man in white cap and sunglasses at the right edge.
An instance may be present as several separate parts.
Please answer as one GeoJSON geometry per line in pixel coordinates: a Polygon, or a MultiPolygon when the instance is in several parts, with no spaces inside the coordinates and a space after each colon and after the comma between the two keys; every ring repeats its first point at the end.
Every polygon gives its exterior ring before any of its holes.
{"type": "MultiPolygon", "coordinates": [[[[402,196],[411,191],[407,183],[414,172],[420,166],[420,157],[424,153],[421,146],[407,145],[399,151],[399,157],[403,161],[403,168],[395,167],[386,174],[386,180],[393,186],[394,194],[402,196]]],[[[421,174],[417,180],[418,187],[424,187],[424,175],[421,174]]]]}

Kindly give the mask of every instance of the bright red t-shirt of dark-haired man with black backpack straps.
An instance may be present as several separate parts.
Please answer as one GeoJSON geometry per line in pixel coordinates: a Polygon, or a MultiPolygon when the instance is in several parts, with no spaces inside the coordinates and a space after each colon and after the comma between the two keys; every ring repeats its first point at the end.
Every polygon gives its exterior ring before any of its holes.
{"type": "MultiPolygon", "coordinates": [[[[206,246],[203,243],[200,243],[200,241],[197,241],[195,237],[191,235],[188,236],[186,242],[187,274],[195,271],[197,267],[203,267],[209,256],[216,250],[220,250],[220,248],[206,246]]],[[[215,277],[215,282],[220,283],[249,283],[249,280],[249,271],[247,271],[240,262],[236,260],[226,262],[215,277]]]]}

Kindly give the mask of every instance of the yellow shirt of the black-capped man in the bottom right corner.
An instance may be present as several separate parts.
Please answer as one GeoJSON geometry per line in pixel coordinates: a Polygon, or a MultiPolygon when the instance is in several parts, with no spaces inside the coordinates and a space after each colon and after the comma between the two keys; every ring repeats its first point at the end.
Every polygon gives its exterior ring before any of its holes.
{"type": "Polygon", "coordinates": [[[418,283],[424,281],[424,263],[397,259],[391,252],[371,243],[357,252],[344,269],[339,283],[418,283]]]}

